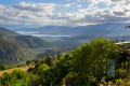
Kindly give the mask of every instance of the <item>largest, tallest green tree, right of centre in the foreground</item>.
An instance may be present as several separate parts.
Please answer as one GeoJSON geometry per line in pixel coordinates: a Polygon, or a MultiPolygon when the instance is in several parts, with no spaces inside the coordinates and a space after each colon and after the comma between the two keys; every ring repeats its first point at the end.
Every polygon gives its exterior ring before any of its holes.
{"type": "Polygon", "coordinates": [[[93,39],[89,44],[82,44],[73,51],[74,68],[82,78],[89,83],[89,77],[94,76],[100,81],[107,76],[107,60],[118,59],[120,48],[107,39],[93,39]]]}

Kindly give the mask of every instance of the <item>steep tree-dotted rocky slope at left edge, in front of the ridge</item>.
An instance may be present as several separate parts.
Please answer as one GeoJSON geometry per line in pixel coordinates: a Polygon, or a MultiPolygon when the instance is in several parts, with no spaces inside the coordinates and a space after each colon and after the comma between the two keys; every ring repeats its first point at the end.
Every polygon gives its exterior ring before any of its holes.
{"type": "Polygon", "coordinates": [[[11,42],[6,42],[5,40],[0,39],[0,59],[23,60],[24,55],[18,45],[15,45],[11,42]]]}

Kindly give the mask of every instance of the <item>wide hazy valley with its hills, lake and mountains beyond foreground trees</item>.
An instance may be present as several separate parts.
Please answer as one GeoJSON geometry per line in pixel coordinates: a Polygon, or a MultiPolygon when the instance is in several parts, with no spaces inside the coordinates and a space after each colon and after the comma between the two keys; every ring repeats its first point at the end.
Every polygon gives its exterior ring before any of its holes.
{"type": "MultiPolygon", "coordinates": [[[[129,41],[129,29],[123,28],[127,24],[119,25],[121,27],[115,25],[115,29],[113,30],[108,27],[112,25],[113,24],[91,25],[74,28],[64,26],[46,26],[41,28],[13,29],[12,31],[5,28],[0,28],[0,43],[5,42],[6,44],[4,44],[8,45],[6,48],[2,45],[2,48],[10,51],[10,47],[12,48],[12,46],[14,46],[17,52],[10,52],[9,59],[9,56],[5,56],[4,58],[4,54],[6,55],[8,53],[4,53],[6,51],[3,52],[2,49],[1,58],[15,62],[10,62],[11,64],[17,64],[17,62],[20,63],[24,60],[43,58],[49,51],[52,51],[52,56],[56,56],[58,52],[61,55],[63,53],[70,54],[73,48],[80,46],[82,43],[89,43],[93,38],[99,39],[101,35],[108,38],[110,41],[129,41]],[[96,29],[95,27],[100,29],[96,29]],[[103,29],[104,27],[107,28],[103,29]],[[121,33],[120,30],[122,30],[121,33]],[[11,57],[11,55],[14,56],[11,57]]],[[[10,66],[4,61],[0,63],[10,66]]]]}

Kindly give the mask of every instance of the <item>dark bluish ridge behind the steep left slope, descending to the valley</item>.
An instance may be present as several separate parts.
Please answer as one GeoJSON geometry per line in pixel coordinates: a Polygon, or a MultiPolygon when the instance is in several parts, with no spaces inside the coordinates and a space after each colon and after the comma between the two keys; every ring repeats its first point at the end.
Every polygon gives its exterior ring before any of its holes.
{"type": "Polygon", "coordinates": [[[18,44],[22,47],[36,48],[43,47],[46,44],[46,42],[43,42],[41,39],[31,35],[22,35],[5,28],[0,28],[0,38],[8,42],[18,44]]]}

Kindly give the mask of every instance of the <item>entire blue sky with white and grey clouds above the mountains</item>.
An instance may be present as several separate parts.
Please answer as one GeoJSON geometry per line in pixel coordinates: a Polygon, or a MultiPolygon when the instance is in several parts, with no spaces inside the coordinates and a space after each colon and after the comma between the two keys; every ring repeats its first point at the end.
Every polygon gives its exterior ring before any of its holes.
{"type": "Polygon", "coordinates": [[[0,0],[0,27],[130,23],[130,0],[0,0]]]}

